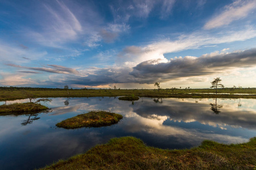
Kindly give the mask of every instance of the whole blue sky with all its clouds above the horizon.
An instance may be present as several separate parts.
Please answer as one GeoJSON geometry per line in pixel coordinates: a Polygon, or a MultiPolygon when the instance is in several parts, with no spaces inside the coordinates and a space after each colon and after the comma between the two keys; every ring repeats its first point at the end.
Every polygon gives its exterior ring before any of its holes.
{"type": "Polygon", "coordinates": [[[256,87],[255,0],[0,0],[0,86],[256,87]]]}

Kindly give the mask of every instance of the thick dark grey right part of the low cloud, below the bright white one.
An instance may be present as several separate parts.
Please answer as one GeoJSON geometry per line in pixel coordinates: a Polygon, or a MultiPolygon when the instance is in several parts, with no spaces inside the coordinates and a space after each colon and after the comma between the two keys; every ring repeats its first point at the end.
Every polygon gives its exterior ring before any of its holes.
{"type": "Polygon", "coordinates": [[[167,63],[154,64],[144,61],[133,67],[130,75],[137,82],[153,83],[181,77],[201,76],[217,73],[236,67],[256,66],[256,48],[230,54],[212,54],[201,57],[176,58],[167,63]]]}

